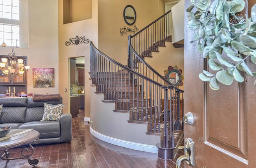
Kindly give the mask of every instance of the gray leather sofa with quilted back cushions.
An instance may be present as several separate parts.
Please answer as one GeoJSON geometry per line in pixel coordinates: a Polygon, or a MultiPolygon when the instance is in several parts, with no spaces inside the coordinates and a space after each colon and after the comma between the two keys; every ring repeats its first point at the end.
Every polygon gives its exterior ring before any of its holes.
{"type": "Polygon", "coordinates": [[[3,105],[0,127],[11,129],[34,129],[40,133],[37,144],[62,143],[72,140],[72,116],[64,113],[60,121],[40,121],[44,114],[44,103],[62,104],[60,101],[33,102],[32,98],[0,98],[3,105]]]}

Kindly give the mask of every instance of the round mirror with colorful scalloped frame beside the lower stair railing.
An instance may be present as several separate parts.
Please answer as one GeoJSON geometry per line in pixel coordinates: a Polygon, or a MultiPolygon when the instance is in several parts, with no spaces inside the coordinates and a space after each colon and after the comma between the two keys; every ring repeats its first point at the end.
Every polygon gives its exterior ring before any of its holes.
{"type": "Polygon", "coordinates": [[[178,69],[178,66],[168,66],[168,69],[164,70],[164,78],[169,80],[174,86],[179,87],[183,85],[182,70],[178,69]]]}

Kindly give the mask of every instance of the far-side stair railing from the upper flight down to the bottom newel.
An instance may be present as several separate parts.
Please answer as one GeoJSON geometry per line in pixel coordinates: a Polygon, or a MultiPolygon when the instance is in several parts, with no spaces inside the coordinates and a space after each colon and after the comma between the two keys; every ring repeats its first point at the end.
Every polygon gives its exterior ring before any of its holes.
{"type": "MultiPolygon", "coordinates": [[[[154,68],[147,64],[144,61],[144,57],[151,57],[151,53],[158,51],[160,46],[164,46],[165,41],[171,41],[169,23],[170,12],[171,10],[138,31],[138,33],[128,36],[128,67],[155,82],[159,82],[162,84],[162,88],[164,88],[164,86],[170,87],[173,85],[169,80],[166,80],[162,75],[156,72],[154,68]]],[[[164,92],[166,92],[166,90],[164,90],[164,92]]],[[[171,154],[169,155],[167,151],[170,150],[170,148],[176,147],[174,133],[178,130],[183,130],[181,117],[184,114],[183,93],[183,90],[173,87],[170,93],[163,94],[164,124],[172,126],[169,127],[169,129],[163,130],[163,140],[161,143],[157,144],[158,157],[160,158],[172,158],[172,152],[170,152],[171,154]],[[168,97],[168,95],[170,95],[170,97],[168,97]],[[172,142],[172,144],[170,144],[170,142],[172,142]]],[[[182,137],[180,139],[182,139],[182,137]]],[[[175,153],[176,149],[174,150],[175,153]]]]}

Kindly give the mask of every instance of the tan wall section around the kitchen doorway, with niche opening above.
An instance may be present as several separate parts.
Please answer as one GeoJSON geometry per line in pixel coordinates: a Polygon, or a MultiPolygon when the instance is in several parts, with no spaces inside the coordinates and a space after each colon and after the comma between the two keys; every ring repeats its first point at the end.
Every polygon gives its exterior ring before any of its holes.
{"type": "MultiPolygon", "coordinates": [[[[59,93],[63,97],[63,102],[70,102],[70,79],[68,78],[68,58],[83,57],[85,59],[85,117],[90,117],[90,44],[82,43],[78,45],[66,46],[65,42],[76,36],[85,38],[94,42],[98,46],[98,1],[92,1],[92,19],[76,21],[73,23],[63,24],[63,0],[58,0],[59,16],[59,93]],[[68,90],[65,92],[65,88],[68,90]]],[[[77,9],[83,10],[83,9],[77,9]]],[[[65,110],[69,111],[66,105],[65,110]]]]}

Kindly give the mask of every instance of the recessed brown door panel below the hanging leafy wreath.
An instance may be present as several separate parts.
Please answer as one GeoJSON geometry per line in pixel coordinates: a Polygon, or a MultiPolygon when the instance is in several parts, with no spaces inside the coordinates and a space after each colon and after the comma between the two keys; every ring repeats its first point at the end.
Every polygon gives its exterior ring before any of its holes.
{"type": "Polygon", "coordinates": [[[245,105],[242,100],[246,97],[240,94],[244,89],[238,82],[229,87],[221,85],[218,91],[208,88],[208,84],[204,88],[204,119],[207,123],[204,141],[217,150],[230,152],[230,156],[240,160],[247,158],[247,111],[240,108],[245,105]]]}

